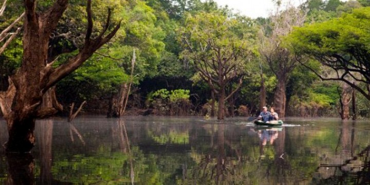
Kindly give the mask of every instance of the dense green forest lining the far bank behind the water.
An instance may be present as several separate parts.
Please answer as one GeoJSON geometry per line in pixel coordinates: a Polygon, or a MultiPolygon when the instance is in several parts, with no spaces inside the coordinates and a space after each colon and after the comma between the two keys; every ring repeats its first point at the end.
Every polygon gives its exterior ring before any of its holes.
{"type": "MultiPolygon", "coordinates": [[[[52,3],[40,1],[36,10],[52,3]]],[[[0,30],[22,14],[22,4],[6,2],[0,30]]],[[[84,113],[107,117],[224,119],[274,106],[282,117],[370,118],[370,2],[275,4],[269,17],[252,19],[213,1],[92,1],[94,29],[103,28],[108,8],[121,28],[57,83],[60,114],[86,101],[84,113]]],[[[61,54],[53,65],[84,44],[85,7],[84,1],[69,1],[50,37],[48,54],[61,54]]],[[[15,35],[17,28],[22,21],[9,32],[15,35]]],[[[0,55],[0,91],[8,89],[22,54],[19,32],[0,55]]]]}

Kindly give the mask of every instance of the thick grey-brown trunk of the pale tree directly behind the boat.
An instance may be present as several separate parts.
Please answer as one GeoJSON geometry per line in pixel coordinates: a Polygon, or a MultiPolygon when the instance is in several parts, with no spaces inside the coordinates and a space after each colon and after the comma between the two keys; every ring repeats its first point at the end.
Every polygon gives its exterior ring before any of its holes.
{"type": "Polygon", "coordinates": [[[279,118],[285,117],[285,103],[285,79],[278,78],[278,85],[276,86],[273,105],[275,107],[275,112],[279,114],[279,118]]]}

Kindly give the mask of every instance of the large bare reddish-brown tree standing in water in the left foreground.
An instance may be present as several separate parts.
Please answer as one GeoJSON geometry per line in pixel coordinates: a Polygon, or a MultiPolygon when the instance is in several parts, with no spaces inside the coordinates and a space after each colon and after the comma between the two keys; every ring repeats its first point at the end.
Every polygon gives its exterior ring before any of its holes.
{"type": "MultiPolygon", "coordinates": [[[[67,0],[57,0],[43,12],[36,12],[36,2],[25,0],[25,20],[23,23],[23,59],[21,68],[9,78],[7,91],[0,94],[0,107],[7,121],[9,139],[8,152],[29,152],[35,143],[33,135],[35,119],[55,113],[56,107],[42,105],[43,96],[57,82],[80,67],[97,49],[107,43],[120,28],[118,24],[105,35],[110,25],[110,11],[106,24],[93,39],[93,18],[91,1],[87,1],[87,29],[85,42],[79,52],[65,63],[53,67],[48,61],[49,40],[57,27],[67,0]],[[104,36],[105,35],[105,36],[104,36]]],[[[54,104],[53,104],[54,105],[54,104]]]]}

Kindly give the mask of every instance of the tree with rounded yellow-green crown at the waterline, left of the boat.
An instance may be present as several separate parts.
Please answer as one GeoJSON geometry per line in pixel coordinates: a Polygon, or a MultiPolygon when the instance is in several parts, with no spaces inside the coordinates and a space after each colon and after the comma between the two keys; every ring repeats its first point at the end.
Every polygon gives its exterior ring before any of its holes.
{"type": "Polygon", "coordinates": [[[225,118],[225,101],[239,89],[245,75],[245,64],[253,41],[248,22],[240,22],[220,13],[188,15],[180,30],[182,57],[192,60],[199,76],[218,95],[217,119],[225,118]],[[238,84],[229,95],[225,87],[237,78],[238,84]]]}

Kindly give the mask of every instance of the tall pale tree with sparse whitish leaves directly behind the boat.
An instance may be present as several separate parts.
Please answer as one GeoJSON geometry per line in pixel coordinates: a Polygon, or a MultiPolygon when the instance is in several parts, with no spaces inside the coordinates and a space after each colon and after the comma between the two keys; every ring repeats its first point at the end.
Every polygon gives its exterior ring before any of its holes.
{"type": "Polygon", "coordinates": [[[300,26],[304,23],[305,14],[292,6],[288,6],[284,11],[280,11],[279,8],[278,6],[276,13],[270,17],[271,30],[265,31],[261,36],[260,52],[278,79],[273,105],[279,117],[283,118],[286,109],[286,84],[291,71],[298,62],[284,46],[282,38],[291,32],[293,26],[300,26]]]}

